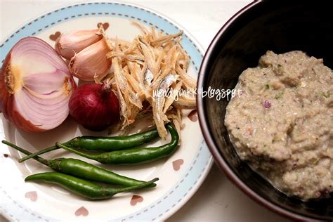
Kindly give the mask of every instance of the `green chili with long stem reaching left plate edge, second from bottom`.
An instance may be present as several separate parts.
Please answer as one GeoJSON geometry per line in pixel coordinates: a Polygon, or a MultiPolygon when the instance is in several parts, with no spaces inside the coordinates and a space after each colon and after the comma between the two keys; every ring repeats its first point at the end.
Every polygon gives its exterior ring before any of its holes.
{"type": "MultiPolygon", "coordinates": [[[[14,145],[13,143],[9,143],[8,141],[2,141],[2,143],[11,146],[15,150],[18,150],[24,153],[25,155],[31,154],[31,152],[22,149],[17,145],[14,145]]],[[[50,167],[54,171],[58,171],[63,174],[70,174],[72,176],[76,176],[78,178],[86,179],[89,181],[111,183],[115,185],[122,185],[125,187],[130,187],[133,185],[139,185],[141,183],[145,183],[145,181],[138,181],[133,178],[115,174],[112,171],[108,171],[93,164],[89,164],[80,159],[72,159],[72,158],[44,159],[38,156],[33,158],[36,159],[41,164],[50,167]]],[[[150,188],[155,186],[156,186],[155,183],[148,185],[148,187],[150,188]]]]}

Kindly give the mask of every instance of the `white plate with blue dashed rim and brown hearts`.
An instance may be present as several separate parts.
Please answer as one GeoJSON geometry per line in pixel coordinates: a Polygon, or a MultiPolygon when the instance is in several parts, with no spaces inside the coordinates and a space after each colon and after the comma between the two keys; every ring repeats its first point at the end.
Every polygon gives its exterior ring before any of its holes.
{"type": "MultiPolygon", "coordinates": [[[[137,20],[148,27],[153,25],[166,33],[183,30],[168,18],[133,5],[76,4],[41,15],[13,32],[0,44],[1,64],[4,62],[6,53],[22,37],[36,36],[53,46],[60,33],[93,29],[99,22],[104,24],[108,36],[131,41],[137,34],[141,34],[137,27],[131,25],[132,20],[137,20]]],[[[193,76],[197,76],[203,50],[186,31],[181,44],[191,58],[189,72],[193,76]]],[[[171,157],[138,166],[106,166],[116,173],[141,180],[159,177],[157,188],[124,193],[111,200],[89,201],[72,195],[56,185],[24,183],[26,176],[50,171],[50,169],[33,159],[18,164],[17,160],[22,155],[1,144],[0,212],[8,219],[18,221],[81,219],[89,221],[159,221],[168,218],[183,206],[200,187],[212,162],[209,150],[203,141],[196,113],[191,112],[189,117],[189,112],[185,112],[183,117],[186,126],[181,135],[182,145],[171,157]]],[[[70,118],[58,128],[46,133],[20,131],[8,123],[4,117],[2,126],[1,138],[6,138],[31,152],[53,145],[56,141],[67,141],[82,134],[101,135],[77,126],[70,118]]],[[[159,144],[160,142],[157,142],[152,145],[159,144]]],[[[61,150],[44,155],[46,158],[60,156],[77,158],[77,156],[61,150]]],[[[85,159],[85,161],[87,160],[85,159]]]]}

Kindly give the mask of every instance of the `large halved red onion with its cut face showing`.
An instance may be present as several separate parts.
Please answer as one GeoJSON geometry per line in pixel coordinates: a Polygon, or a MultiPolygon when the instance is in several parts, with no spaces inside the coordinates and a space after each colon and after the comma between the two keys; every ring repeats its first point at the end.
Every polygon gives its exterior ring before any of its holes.
{"type": "Polygon", "coordinates": [[[0,109],[25,131],[59,126],[68,116],[76,84],[65,61],[45,41],[26,37],[6,56],[0,75],[0,109]]]}

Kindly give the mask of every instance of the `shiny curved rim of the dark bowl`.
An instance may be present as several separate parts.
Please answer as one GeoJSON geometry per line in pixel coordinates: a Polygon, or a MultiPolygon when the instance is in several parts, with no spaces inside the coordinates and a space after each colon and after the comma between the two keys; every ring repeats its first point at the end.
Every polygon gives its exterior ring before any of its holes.
{"type": "MultiPolygon", "coordinates": [[[[218,39],[220,39],[226,30],[228,30],[228,27],[237,20],[240,16],[242,16],[245,12],[249,11],[250,9],[256,7],[257,5],[261,4],[261,1],[252,1],[252,3],[247,4],[247,6],[244,6],[240,11],[237,11],[235,15],[233,15],[222,27],[220,30],[218,30],[217,34],[209,44],[209,47],[207,48],[207,51],[204,55],[204,58],[202,60],[202,64],[200,66],[199,75],[197,79],[197,89],[202,89],[205,77],[207,76],[207,70],[209,70],[208,63],[209,60],[212,60],[214,58],[211,57],[212,51],[214,51],[214,47],[218,43],[218,39]]],[[[292,211],[289,211],[287,209],[284,209],[283,207],[280,207],[276,204],[273,204],[272,202],[269,202],[265,198],[261,197],[259,194],[254,192],[249,186],[247,186],[240,178],[237,177],[237,175],[233,172],[232,169],[228,166],[227,162],[223,159],[223,157],[220,155],[218,151],[218,147],[214,143],[214,138],[211,136],[211,133],[209,133],[209,126],[208,121],[205,118],[206,112],[204,109],[204,100],[200,93],[197,93],[197,113],[198,113],[198,119],[200,123],[200,128],[202,130],[204,140],[206,141],[208,148],[211,152],[211,155],[213,155],[215,162],[220,166],[221,169],[223,169],[226,176],[229,178],[230,181],[232,181],[235,185],[237,185],[242,192],[244,192],[247,196],[251,197],[252,200],[258,202],[263,207],[266,207],[266,209],[269,209],[270,211],[273,211],[277,214],[280,214],[282,216],[285,216],[287,218],[291,218],[293,220],[298,221],[306,221],[308,219],[318,219],[313,218],[310,216],[303,216],[301,214],[296,214],[292,211]]]]}

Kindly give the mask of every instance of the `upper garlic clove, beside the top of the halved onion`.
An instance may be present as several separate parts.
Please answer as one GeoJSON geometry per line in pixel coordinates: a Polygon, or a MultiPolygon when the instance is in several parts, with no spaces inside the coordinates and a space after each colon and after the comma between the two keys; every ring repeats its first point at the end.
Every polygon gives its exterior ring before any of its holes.
{"type": "Polygon", "coordinates": [[[63,33],[55,41],[55,50],[63,58],[70,60],[75,53],[79,53],[84,48],[103,39],[103,32],[102,28],[98,28],[96,30],[78,30],[63,33]]]}

